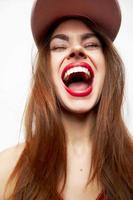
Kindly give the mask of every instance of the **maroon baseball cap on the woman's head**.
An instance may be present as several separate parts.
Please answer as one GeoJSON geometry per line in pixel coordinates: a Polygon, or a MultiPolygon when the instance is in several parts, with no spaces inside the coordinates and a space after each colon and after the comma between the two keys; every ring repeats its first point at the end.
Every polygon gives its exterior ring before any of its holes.
{"type": "Polygon", "coordinates": [[[121,24],[117,0],[36,0],[31,14],[31,29],[38,45],[58,19],[82,16],[94,22],[114,41],[121,24]]]}

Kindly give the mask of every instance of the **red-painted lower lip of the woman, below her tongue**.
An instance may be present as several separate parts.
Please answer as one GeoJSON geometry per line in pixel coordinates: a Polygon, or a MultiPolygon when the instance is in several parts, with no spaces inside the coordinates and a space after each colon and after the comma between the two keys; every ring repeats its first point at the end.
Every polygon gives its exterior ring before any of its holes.
{"type": "Polygon", "coordinates": [[[66,91],[70,95],[75,96],[75,97],[85,97],[85,96],[88,96],[88,95],[90,95],[90,93],[93,90],[92,85],[89,86],[86,90],[83,90],[83,91],[73,91],[70,88],[66,87],[66,85],[64,85],[64,87],[65,87],[66,91]]]}

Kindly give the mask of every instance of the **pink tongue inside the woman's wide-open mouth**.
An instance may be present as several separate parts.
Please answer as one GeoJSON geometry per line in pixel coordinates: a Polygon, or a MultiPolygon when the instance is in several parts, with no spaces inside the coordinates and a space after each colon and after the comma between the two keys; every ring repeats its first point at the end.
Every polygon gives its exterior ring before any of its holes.
{"type": "Polygon", "coordinates": [[[71,83],[68,87],[74,91],[83,91],[88,87],[88,84],[85,82],[76,82],[71,83]]]}

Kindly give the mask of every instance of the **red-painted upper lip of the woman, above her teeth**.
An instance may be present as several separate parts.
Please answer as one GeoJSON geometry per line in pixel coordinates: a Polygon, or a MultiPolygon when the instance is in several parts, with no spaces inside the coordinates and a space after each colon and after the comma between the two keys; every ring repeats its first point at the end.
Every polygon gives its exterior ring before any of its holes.
{"type": "Polygon", "coordinates": [[[81,67],[87,68],[87,69],[89,70],[90,74],[91,74],[91,77],[92,77],[92,78],[94,77],[94,71],[93,71],[92,67],[91,67],[88,63],[86,63],[86,62],[74,62],[74,63],[70,63],[70,64],[68,64],[68,65],[66,65],[66,66],[64,67],[64,69],[63,69],[63,71],[62,71],[62,76],[61,76],[62,79],[63,79],[63,77],[64,77],[64,75],[65,75],[65,72],[66,72],[67,70],[69,70],[69,69],[71,69],[71,68],[73,68],[73,67],[77,67],[77,66],[81,66],[81,67]]]}

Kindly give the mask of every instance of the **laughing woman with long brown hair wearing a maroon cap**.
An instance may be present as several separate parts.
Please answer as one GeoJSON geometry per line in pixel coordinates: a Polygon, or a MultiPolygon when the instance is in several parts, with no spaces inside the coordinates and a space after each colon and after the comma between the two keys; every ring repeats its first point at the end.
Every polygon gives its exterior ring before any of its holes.
{"type": "Polygon", "coordinates": [[[11,174],[5,199],[131,200],[133,143],[121,116],[124,72],[113,46],[118,2],[53,3],[37,0],[32,11],[38,55],[26,141],[1,155],[4,189],[11,174]]]}

